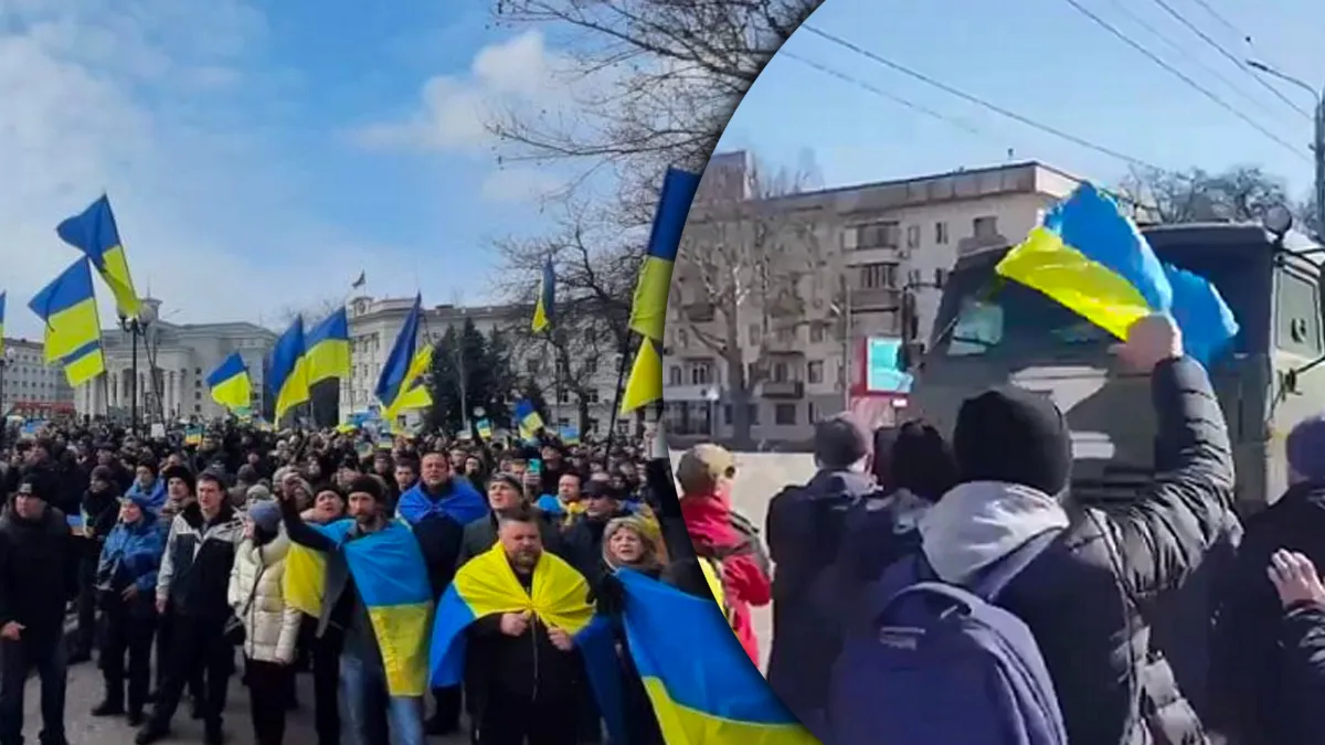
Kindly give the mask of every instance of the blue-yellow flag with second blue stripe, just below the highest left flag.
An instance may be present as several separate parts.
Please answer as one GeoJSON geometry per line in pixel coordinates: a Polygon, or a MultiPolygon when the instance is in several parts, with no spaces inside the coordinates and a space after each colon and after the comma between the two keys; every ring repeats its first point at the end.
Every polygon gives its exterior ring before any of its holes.
{"type": "Polygon", "coordinates": [[[70,386],[80,386],[105,372],[101,317],[86,257],[42,288],[28,308],[46,325],[46,362],[62,365],[70,386]]]}

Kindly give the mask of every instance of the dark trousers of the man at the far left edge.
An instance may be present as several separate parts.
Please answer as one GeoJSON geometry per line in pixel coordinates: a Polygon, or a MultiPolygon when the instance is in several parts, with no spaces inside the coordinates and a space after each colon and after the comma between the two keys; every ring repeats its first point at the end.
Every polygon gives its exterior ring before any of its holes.
{"type": "Polygon", "coordinates": [[[41,736],[45,745],[65,742],[68,658],[64,638],[54,642],[0,642],[0,745],[23,742],[23,693],[28,672],[41,681],[41,736]]]}

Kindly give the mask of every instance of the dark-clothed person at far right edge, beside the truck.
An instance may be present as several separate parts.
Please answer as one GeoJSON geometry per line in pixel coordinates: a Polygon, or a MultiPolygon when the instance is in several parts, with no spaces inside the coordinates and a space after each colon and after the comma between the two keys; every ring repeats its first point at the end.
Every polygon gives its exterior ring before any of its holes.
{"type": "MultiPolygon", "coordinates": [[[[1279,550],[1325,569],[1325,414],[1293,427],[1284,455],[1288,490],[1247,522],[1235,565],[1220,581],[1211,708],[1222,715],[1220,734],[1239,745],[1309,742],[1320,734],[1308,716],[1314,716],[1317,703],[1297,697],[1288,683],[1293,673],[1288,658],[1298,651],[1281,647],[1285,616],[1302,608],[1285,608],[1265,573],[1279,550]]],[[[1321,667],[1314,660],[1310,665],[1321,667]]]]}

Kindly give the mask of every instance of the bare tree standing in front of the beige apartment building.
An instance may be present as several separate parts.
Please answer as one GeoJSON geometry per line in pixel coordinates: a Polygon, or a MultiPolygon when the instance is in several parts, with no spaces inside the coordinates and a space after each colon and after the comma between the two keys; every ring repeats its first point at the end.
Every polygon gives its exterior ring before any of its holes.
{"type": "Polygon", "coordinates": [[[795,353],[795,331],[824,319],[807,297],[831,306],[836,292],[825,207],[804,192],[811,179],[758,162],[710,168],[686,223],[669,321],[722,361],[738,445],[750,440],[749,404],[771,359],[795,353]]]}

